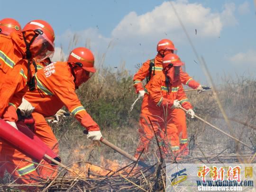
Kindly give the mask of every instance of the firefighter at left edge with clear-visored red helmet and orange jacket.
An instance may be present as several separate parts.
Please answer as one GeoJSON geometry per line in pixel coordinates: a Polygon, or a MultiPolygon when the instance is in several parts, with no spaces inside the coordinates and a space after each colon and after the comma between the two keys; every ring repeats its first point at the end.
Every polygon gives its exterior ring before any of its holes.
{"type": "Polygon", "coordinates": [[[39,62],[53,54],[54,38],[52,27],[43,20],[27,23],[22,33],[0,35],[0,118],[5,110],[16,110],[8,109],[14,95],[19,106],[27,87],[35,89],[32,59],[39,62]]]}

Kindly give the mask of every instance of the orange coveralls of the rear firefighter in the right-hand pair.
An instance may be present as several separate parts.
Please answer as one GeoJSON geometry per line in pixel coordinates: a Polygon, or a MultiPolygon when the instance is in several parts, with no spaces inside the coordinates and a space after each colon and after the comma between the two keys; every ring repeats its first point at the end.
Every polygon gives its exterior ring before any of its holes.
{"type": "MultiPolygon", "coordinates": [[[[160,54],[157,54],[155,56],[155,66],[153,66],[153,68],[152,68],[152,74],[153,73],[157,74],[157,73],[162,72],[162,70],[163,70],[162,61],[163,61],[163,57],[160,54]]],[[[134,87],[135,87],[137,93],[138,93],[138,91],[144,90],[142,81],[149,75],[148,74],[149,73],[149,64],[150,64],[150,60],[146,61],[133,77],[134,87]]],[[[152,78],[152,76],[153,75],[151,75],[151,78],[152,78]]],[[[188,73],[183,72],[182,68],[180,68],[180,80],[181,80],[181,83],[188,85],[192,89],[196,89],[200,85],[200,83],[193,80],[188,75],[188,73]]],[[[143,105],[147,105],[146,100],[142,101],[142,106],[143,105]],[[144,103],[144,102],[146,102],[146,103],[144,103]]],[[[173,111],[173,121],[174,121],[174,124],[176,125],[176,127],[178,128],[178,130],[181,131],[181,132],[179,132],[180,148],[181,148],[181,150],[186,149],[188,139],[187,139],[186,117],[185,117],[184,111],[180,110],[180,109],[174,110],[173,111]]]]}

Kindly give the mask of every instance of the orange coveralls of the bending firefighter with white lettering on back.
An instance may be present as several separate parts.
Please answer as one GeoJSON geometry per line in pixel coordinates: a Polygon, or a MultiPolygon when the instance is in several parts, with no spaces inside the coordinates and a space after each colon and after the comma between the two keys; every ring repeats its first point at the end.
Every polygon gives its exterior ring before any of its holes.
{"type": "MultiPolygon", "coordinates": [[[[47,65],[36,73],[37,80],[37,91],[28,91],[24,98],[31,103],[35,110],[32,113],[32,117],[35,120],[35,134],[46,143],[47,146],[53,149],[58,154],[59,149],[57,139],[46,123],[45,117],[53,116],[63,106],[73,114],[73,116],[85,127],[88,131],[100,130],[98,124],[93,121],[91,116],[83,108],[75,93],[74,77],[71,73],[71,68],[67,62],[55,62],[47,65]],[[55,147],[54,147],[55,146],[55,147]],[[53,148],[54,147],[54,148],[53,148]]],[[[16,102],[13,101],[16,105],[16,102]]],[[[16,166],[23,159],[29,159],[26,155],[15,153],[13,158],[17,159],[14,162],[16,166]]],[[[22,161],[23,162],[23,161],[22,161]]],[[[45,167],[40,166],[37,170],[31,163],[23,162],[23,166],[26,171],[21,170],[22,182],[34,182],[30,181],[29,178],[38,175],[42,178],[54,177],[56,172],[45,167]],[[31,166],[31,167],[29,167],[31,166]]],[[[46,167],[56,169],[56,166],[49,165],[46,161],[42,163],[46,167]]],[[[15,166],[13,166],[15,168],[15,166]]],[[[14,170],[14,169],[13,169],[14,170]]],[[[20,170],[20,169],[19,169],[20,170]]],[[[19,174],[18,170],[18,175],[19,174]]]]}

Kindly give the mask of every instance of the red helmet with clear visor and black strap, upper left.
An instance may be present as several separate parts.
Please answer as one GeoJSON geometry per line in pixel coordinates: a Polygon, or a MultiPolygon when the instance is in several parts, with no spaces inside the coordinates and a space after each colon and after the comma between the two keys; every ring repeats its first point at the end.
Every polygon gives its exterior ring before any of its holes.
{"type": "Polygon", "coordinates": [[[49,23],[43,20],[32,20],[25,25],[22,32],[40,30],[39,35],[35,38],[30,46],[32,56],[40,62],[54,53],[54,30],[49,23]]]}

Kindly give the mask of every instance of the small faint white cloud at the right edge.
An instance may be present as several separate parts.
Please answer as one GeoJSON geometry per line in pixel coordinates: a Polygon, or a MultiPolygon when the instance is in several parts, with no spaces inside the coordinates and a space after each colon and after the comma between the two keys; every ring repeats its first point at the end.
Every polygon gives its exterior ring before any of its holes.
{"type": "Polygon", "coordinates": [[[256,65],[256,50],[250,49],[247,52],[240,52],[228,58],[233,64],[256,65]]]}

